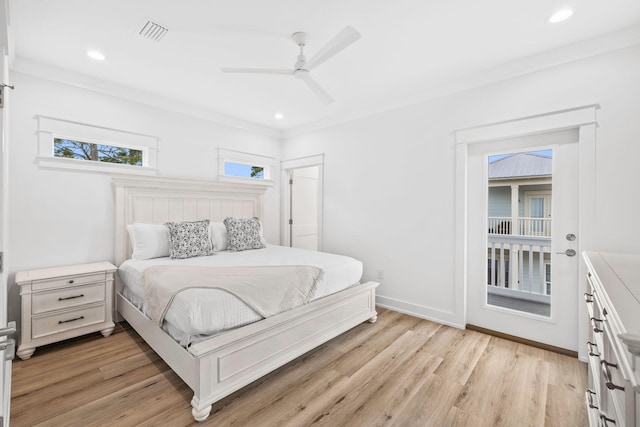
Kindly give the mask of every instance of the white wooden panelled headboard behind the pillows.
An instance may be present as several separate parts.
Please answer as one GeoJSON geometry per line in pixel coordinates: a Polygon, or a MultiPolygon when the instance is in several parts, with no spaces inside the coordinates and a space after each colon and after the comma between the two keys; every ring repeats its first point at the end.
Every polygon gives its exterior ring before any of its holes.
{"type": "Polygon", "coordinates": [[[115,189],[115,262],[130,258],[127,225],[134,222],[163,224],[167,221],[226,217],[263,218],[267,186],[251,183],[112,174],[115,189]]]}

